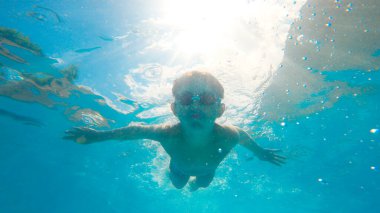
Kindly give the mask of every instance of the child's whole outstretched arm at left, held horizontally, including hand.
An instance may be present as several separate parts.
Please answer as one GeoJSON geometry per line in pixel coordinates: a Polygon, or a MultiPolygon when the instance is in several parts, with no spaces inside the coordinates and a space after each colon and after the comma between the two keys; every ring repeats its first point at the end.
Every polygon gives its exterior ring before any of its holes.
{"type": "Polygon", "coordinates": [[[151,139],[160,141],[163,137],[165,126],[133,125],[113,130],[95,130],[88,127],[75,127],[67,130],[63,139],[73,140],[81,144],[90,144],[106,140],[137,140],[151,139]]]}

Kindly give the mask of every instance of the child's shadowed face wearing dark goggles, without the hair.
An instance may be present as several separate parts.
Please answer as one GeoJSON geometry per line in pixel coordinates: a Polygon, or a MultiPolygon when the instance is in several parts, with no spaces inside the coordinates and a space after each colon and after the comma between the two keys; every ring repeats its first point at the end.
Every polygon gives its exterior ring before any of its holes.
{"type": "Polygon", "coordinates": [[[172,110],[185,127],[202,129],[213,126],[224,112],[224,104],[215,88],[205,81],[189,81],[176,91],[172,110]]]}

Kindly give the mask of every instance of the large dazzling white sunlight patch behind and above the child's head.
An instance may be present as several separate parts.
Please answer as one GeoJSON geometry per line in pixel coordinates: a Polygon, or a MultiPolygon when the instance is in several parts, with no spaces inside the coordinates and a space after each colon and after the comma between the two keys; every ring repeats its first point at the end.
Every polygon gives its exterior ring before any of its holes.
{"type": "Polygon", "coordinates": [[[156,4],[159,13],[143,22],[152,33],[140,53],[144,58],[165,55],[159,63],[174,72],[163,69],[171,75],[160,77],[169,80],[149,80],[149,88],[154,88],[149,92],[141,90],[147,85],[126,83],[132,95],[157,99],[160,90],[151,84],[171,83],[184,71],[205,68],[224,86],[229,122],[248,123],[281,63],[288,31],[304,2],[162,0],[156,4]]]}

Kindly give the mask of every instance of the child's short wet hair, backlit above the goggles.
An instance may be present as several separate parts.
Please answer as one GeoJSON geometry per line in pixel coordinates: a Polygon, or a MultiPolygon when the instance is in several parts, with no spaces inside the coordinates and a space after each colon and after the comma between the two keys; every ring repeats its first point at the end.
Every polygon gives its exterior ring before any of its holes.
{"type": "MultiPolygon", "coordinates": [[[[216,79],[213,75],[211,75],[208,72],[202,72],[202,71],[190,71],[184,73],[182,76],[174,80],[172,93],[174,97],[177,97],[178,93],[177,91],[181,86],[185,85],[188,82],[191,81],[203,81],[204,83],[211,86],[218,97],[223,98],[224,97],[224,89],[222,84],[216,79]]],[[[203,83],[202,82],[202,83],[203,83]]]]}

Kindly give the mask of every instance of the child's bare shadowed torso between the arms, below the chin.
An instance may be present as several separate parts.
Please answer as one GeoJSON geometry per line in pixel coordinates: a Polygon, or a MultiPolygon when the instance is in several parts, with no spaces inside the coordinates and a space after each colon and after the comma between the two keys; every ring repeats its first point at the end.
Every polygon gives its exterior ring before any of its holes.
{"type": "Polygon", "coordinates": [[[171,164],[182,173],[197,176],[214,172],[220,162],[237,144],[236,128],[215,125],[213,139],[205,144],[190,144],[183,139],[178,126],[170,127],[161,145],[171,158],[171,164]]]}

